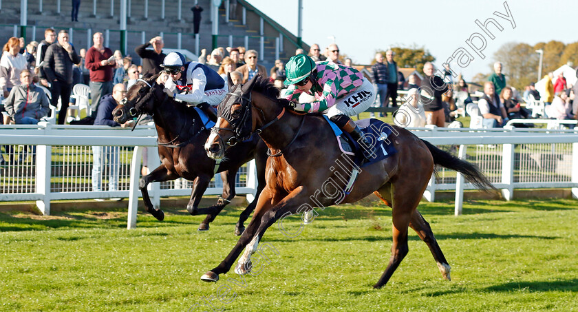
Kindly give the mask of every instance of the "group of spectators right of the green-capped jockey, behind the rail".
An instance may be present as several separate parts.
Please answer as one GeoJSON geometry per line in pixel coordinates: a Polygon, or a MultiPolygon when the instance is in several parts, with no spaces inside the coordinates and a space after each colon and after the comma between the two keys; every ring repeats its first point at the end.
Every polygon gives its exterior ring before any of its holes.
{"type": "MultiPolygon", "coordinates": [[[[389,53],[386,52],[386,53],[389,53]]],[[[386,54],[387,55],[387,54],[386,54]]],[[[393,54],[394,56],[395,54],[393,54]]],[[[392,98],[393,94],[383,96],[383,92],[394,87],[393,80],[387,81],[385,77],[387,74],[392,75],[394,70],[387,70],[391,62],[383,61],[381,53],[376,54],[376,63],[372,65],[372,79],[376,94],[380,101],[376,101],[376,107],[394,107],[394,105],[387,105],[383,100],[387,97],[392,98]]],[[[578,82],[572,85],[568,83],[564,72],[560,72],[556,79],[552,72],[544,76],[542,84],[544,89],[542,94],[536,90],[535,83],[530,83],[524,88],[523,96],[511,85],[507,84],[506,74],[502,73],[502,63],[496,62],[493,64],[494,72],[488,77],[488,81],[483,84],[483,92],[471,92],[469,85],[460,75],[456,83],[451,81],[451,73],[445,69],[444,76],[434,74],[436,68],[432,63],[426,63],[423,67],[423,77],[420,83],[416,83],[415,74],[410,74],[407,77],[406,96],[402,99],[407,100],[403,103],[403,116],[396,116],[394,122],[398,125],[412,127],[420,124],[420,118],[416,122],[408,121],[409,114],[407,111],[412,111],[410,106],[414,106],[416,110],[423,110],[426,116],[426,125],[436,125],[438,127],[460,127],[461,123],[456,121],[456,118],[464,114],[464,109],[467,105],[473,105],[475,109],[473,112],[478,112],[482,116],[483,127],[503,127],[511,119],[531,119],[531,118],[550,118],[550,119],[577,119],[578,118],[578,101],[574,101],[575,94],[578,92],[578,82]],[[554,82],[553,82],[554,81],[554,82]],[[442,85],[443,88],[434,87],[434,85],[442,85]],[[417,102],[414,103],[414,92],[420,88],[420,94],[416,95],[417,102]],[[539,114],[533,114],[532,108],[542,105],[543,110],[539,114]]],[[[577,68],[578,78],[578,68],[577,68]]],[[[403,75],[398,72],[398,82],[403,79],[403,75]]],[[[403,83],[397,84],[400,90],[403,90],[403,83]]],[[[398,114],[396,112],[395,114],[398,114]]],[[[371,113],[373,116],[373,113],[371,113]]],[[[411,119],[411,118],[410,118],[411,119]]],[[[532,123],[515,123],[516,127],[531,127],[532,123]]]]}

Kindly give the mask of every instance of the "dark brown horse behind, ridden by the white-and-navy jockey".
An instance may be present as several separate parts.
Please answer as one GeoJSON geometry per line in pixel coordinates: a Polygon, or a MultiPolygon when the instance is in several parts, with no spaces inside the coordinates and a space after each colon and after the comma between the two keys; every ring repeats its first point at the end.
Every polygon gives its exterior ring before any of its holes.
{"type": "MultiPolygon", "coordinates": [[[[215,220],[217,214],[235,197],[235,175],[237,169],[244,163],[255,158],[257,165],[257,195],[265,185],[264,168],[266,165],[267,147],[258,136],[239,143],[227,152],[226,158],[215,168],[215,160],[208,158],[204,152],[204,142],[209,130],[193,107],[178,103],[163,92],[164,85],[157,83],[158,75],[148,79],[139,79],[127,92],[126,101],[119,104],[112,114],[117,123],[125,123],[129,118],[138,114],[150,114],[155,121],[158,134],[158,154],[161,165],[143,176],[139,183],[142,200],[147,211],[158,220],[164,219],[164,212],[155,209],[149,198],[147,185],[153,182],[175,180],[182,177],[195,181],[191,198],[186,210],[193,216],[206,214],[206,218],[199,225],[199,231],[209,229],[209,223],[215,220]],[[215,170],[216,169],[216,170],[215,170]],[[211,178],[217,172],[224,172],[223,193],[217,204],[208,208],[198,208],[199,202],[211,178]]],[[[235,225],[235,235],[244,231],[244,222],[255,209],[257,200],[253,200],[242,211],[239,221],[235,225]]]]}

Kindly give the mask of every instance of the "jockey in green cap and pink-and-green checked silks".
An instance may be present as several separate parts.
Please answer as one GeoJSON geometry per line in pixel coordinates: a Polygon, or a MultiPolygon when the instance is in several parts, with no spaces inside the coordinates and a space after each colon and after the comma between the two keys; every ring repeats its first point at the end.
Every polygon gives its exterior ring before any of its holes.
{"type": "Polygon", "coordinates": [[[281,97],[295,103],[295,110],[322,112],[363,147],[363,156],[374,157],[375,147],[363,137],[361,129],[350,116],[365,112],[375,101],[374,87],[353,67],[331,61],[315,63],[305,54],[297,54],[285,66],[288,89],[281,97]],[[305,92],[317,98],[312,103],[298,103],[305,92]]]}

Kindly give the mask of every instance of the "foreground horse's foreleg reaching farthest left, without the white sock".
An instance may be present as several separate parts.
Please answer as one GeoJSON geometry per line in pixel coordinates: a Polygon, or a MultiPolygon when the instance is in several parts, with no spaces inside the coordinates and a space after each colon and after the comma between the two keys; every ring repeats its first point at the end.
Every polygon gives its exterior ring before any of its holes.
{"type": "Polygon", "coordinates": [[[253,236],[257,232],[257,229],[259,229],[259,225],[261,225],[261,217],[275,205],[276,202],[273,195],[272,190],[265,187],[259,199],[256,200],[257,208],[255,214],[253,214],[253,218],[237,241],[235,247],[231,249],[231,252],[228,253],[226,258],[217,267],[202,275],[201,280],[205,282],[217,282],[220,274],[227,273],[231,269],[233,263],[237,260],[237,257],[239,257],[245,246],[253,240],[253,236]]]}

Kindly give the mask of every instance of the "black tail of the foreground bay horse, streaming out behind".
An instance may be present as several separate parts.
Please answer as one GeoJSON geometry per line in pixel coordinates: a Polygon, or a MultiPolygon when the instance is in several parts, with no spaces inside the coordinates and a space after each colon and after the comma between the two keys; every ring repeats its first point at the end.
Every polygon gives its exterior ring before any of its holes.
{"type": "Polygon", "coordinates": [[[472,165],[465,160],[461,160],[448,152],[444,152],[425,140],[422,141],[427,146],[427,149],[429,149],[431,156],[434,157],[434,163],[436,165],[460,172],[464,175],[466,180],[469,180],[469,182],[473,183],[473,185],[479,189],[484,189],[486,191],[489,189],[497,190],[475,165],[472,165]]]}

